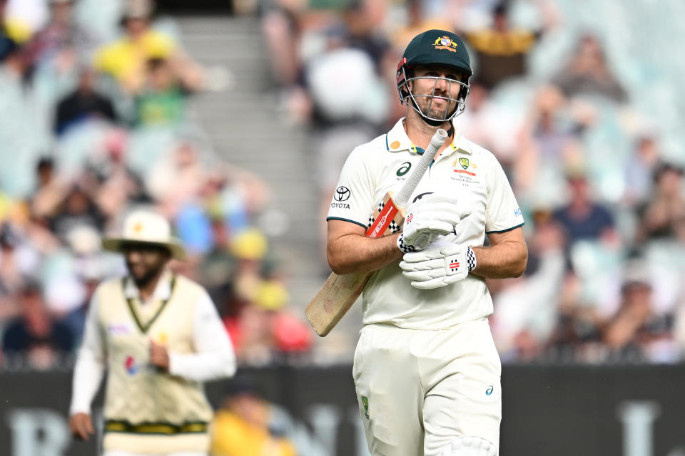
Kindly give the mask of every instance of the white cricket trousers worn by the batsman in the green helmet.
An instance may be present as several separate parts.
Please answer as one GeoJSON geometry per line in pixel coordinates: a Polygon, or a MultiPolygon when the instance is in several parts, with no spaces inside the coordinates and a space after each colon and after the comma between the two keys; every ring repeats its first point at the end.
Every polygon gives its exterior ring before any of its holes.
{"type": "Polygon", "coordinates": [[[502,365],[487,319],[438,331],[362,328],[352,375],[373,456],[436,456],[457,437],[499,448],[502,365]]]}

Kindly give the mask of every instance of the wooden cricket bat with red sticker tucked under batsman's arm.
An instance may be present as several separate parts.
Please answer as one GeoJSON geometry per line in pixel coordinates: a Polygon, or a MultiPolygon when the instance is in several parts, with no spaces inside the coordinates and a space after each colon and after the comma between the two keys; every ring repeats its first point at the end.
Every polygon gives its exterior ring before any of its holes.
{"type": "MultiPolygon", "coordinates": [[[[385,234],[396,233],[402,229],[405,221],[405,207],[421,177],[425,174],[433,161],[433,157],[440,147],[445,144],[447,132],[440,128],[437,130],[430,145],[423,152],[421,160],[407,178],[407,182],[402,185],[397,196],[392,192],[387,192],[383,200],[378,203],[374,214],[370,219],[368,229],[365,232],[367,237],[382,237],[385,234]]],[[[330,333],[330,330],[338,324],[340,318],[345,316],[357,298],[373,272],[353,272],[352,274],[338,275],[331,273],[326,279],[325,284],[309,302],[305,315],[314,331],[321,337],[330,333]]]]}

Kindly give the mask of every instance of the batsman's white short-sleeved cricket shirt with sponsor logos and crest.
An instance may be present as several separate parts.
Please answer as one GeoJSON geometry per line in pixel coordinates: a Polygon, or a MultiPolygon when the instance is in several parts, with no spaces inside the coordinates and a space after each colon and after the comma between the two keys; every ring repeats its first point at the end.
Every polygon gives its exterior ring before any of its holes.
{"type": "MultiPolygon", "coordinates": [[[[352,150],[340,173],[328,218],[369,225],[369,217],[385,193],[397,194],[420,160],[423,150],[405,133],[404,119],[385,135],[352,150]]],[[[485,234],[506,232],[524,224],[519,205],[492,152],[455,133],[423,175],[411,202],[427,192],[454,197],[471,214],[457,225],[450,240],[482,246],[485,234]]],[[[415,289],[402,276],[399,261],[375,271],[362,294],[363,321],[400,328],[443,329],[492,314],[492,299],[484,279],[467,279],[439,289],[415,289]]]]}

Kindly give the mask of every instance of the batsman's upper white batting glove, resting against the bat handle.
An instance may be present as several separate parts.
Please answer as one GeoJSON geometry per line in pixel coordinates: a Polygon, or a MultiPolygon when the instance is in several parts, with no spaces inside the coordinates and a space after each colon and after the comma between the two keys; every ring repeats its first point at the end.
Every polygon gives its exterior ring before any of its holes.
{"type": "Polygon", "coordinates": [[[397,247],[405,253],[425,249],[439,237],[452,233],[470,213],[454,197],[425,195],[407,207],[397,247]]]}

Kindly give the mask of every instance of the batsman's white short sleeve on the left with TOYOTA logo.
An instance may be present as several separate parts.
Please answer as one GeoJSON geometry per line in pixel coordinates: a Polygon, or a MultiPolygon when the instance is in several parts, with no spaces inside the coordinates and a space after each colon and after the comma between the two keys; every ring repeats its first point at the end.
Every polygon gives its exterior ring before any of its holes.
{"type": "Polygon", "coordinates": [[[342,166],[338,187],[333,192],[326,220],[345,220],[367,227],[373,210],[374,185],[368,151],[357,147],[342,166]]]}

